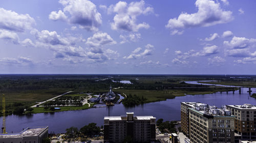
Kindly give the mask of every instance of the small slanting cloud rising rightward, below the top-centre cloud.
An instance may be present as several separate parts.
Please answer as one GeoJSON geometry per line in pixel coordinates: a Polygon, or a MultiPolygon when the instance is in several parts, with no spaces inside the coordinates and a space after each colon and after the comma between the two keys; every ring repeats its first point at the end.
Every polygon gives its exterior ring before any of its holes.
{"type": "Polygon", "coordinates": [[[147,44],[145,47],[146,48],[144,49],[144,51],[140,47],[134,49],[129,56],[124,56],[123,59],[138,59],[148,55],[152,55],[154,46],[151,44],[147,44]]]}

